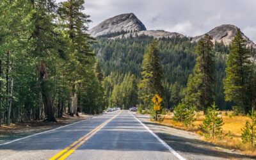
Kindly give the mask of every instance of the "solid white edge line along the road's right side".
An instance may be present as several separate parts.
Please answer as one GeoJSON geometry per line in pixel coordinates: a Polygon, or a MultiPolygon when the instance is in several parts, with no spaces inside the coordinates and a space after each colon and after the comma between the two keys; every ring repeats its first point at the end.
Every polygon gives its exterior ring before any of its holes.
{"type": "MultiPolygon", "coordinates": [[[[130,112],[129,112],[130,113],[130,112]]],[[[148,132],[150,132],[160,143],[162,143],[164,145],[164,147],[168,148],[168,150],[170,150],[170,152],[172,152],[172,154],[174,156],[176,156],[178,159],[180,160],[186,160],[184,157],[180,156],[180,154],[178,154],[175,150],[173,150],[172,147],[170,147],[170,145],[168,145],[167,143],[165,143],[161,138],[159,138],[159,136],[157,136],[153,131],[151,131],[147,125],[143,124],[136,116],[134,116],[132,113],[130,113],[136,120],[138,120],[138,122],[140,122],[141,125],[143,125],[143,127],[145,127],[145,129],[147,129],[148,132]]]]}

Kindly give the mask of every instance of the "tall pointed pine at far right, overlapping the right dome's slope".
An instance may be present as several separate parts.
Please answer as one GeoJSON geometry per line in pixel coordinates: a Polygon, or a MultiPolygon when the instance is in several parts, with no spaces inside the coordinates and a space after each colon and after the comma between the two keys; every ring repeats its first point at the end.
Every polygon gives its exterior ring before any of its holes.
{"type": "Polygon", "coordinates": [[[238,29],[231,44],[228,55],[226,77],[224,79],[225,100],[236,102],[237,106],[248,113],[250,111],[250,97],[248,95],[250,75],[250,52],[246,48],[246,40],[238,29]]]}

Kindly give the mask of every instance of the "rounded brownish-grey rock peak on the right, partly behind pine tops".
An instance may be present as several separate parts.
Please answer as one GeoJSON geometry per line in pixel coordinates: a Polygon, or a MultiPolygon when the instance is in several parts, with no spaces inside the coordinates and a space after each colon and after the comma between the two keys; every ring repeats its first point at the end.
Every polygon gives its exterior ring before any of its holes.
{"type": "MultiPolygon", "coordinates": [[[[216,42],[223,42],[225,45],[229,45],[229,44],[231,44],[232,40],[234,40],[234,37],[237,33],[237,30],[238,30],[238,28],[234,25],[223,24],[221,26],[218,26],[218,27],[212,29],[207,34],[212,36],[212,42],[215,42],[215,41],[216,42]]],[[[204,37],[204,35],[195,36],[193,38],[193,41],[197,42],[202,37],[204,37]]],[[[243,37],[247,41],[248,46],[253,46],[253,48],[256,47],[255,44],[253,44],[252,40],[250,40],[247,36],[245,36],[243,34],[243,37]]]]}

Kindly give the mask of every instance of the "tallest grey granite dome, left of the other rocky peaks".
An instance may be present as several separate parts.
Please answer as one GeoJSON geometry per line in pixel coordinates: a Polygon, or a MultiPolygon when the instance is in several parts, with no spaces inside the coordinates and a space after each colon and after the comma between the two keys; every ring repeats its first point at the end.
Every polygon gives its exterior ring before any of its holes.
{"type": "Polygon", "coordinates": [[[133,13],[117,15],[110,19],[104,20],[88,33],[92,36],[108,35],[121,31],[146,31],[144,24],[133,13]]]}

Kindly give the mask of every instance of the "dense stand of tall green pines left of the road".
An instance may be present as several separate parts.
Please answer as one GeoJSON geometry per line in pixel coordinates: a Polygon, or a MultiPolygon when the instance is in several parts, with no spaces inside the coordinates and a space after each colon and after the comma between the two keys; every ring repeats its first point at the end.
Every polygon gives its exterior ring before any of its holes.
{"type": "Polygon", "coordinates": [[[84,1],[1,1],[0,125],[100,113],[100,68],[84,1]]]}

